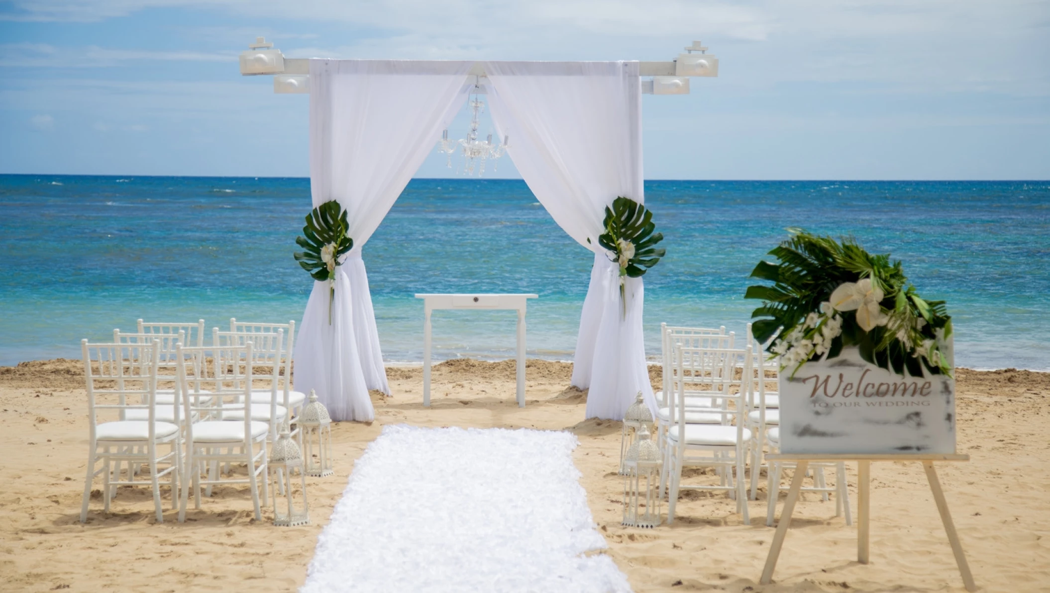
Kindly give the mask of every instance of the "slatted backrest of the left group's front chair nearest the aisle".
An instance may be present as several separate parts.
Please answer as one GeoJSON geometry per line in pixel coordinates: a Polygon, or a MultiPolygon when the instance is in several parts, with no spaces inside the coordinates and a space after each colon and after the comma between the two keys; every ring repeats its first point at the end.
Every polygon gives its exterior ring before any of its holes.
{"type": "MultiPolygon", "coordinates": [[[[245,446],[251,446],[252,343],[244,345],[175,346],[175,373],[181,385],[183,412],[186,418],[222,421],[225,414],[242,412],[245,423],[245,446]],[[208,356],[211,355],[211,364],[208,356]],[[195,396],[191,383],[198,381],[207,397],[195,396]]],[[[187,441],[193,439],[193,424],[186,424],[187,441]]]]}

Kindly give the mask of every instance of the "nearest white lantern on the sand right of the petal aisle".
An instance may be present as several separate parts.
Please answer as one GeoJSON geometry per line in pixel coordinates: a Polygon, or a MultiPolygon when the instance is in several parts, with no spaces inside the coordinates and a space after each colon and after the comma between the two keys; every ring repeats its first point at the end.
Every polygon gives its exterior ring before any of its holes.
{"type": "Polygon", "coordinates": [[[643,425],[624,456],[623,525],[626,527],[652,528],[663,522],[658,492],[663,454],[649,437],[649,427],[643,425]]]}

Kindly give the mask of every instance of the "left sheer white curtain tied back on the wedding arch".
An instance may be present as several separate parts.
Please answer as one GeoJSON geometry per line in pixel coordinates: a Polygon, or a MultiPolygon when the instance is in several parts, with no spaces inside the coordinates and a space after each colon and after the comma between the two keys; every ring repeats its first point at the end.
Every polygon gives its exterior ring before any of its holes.
{"type": "Polygon", "coordinates": [[[472,62],[310,61],[314,207],[346,210],[354,249],[329,284],[314,282],[295,345],[295,388],[316,389],[334,420],[374,417],[369,389],[390,393],[361,248],[466,100],[472,62]]]}

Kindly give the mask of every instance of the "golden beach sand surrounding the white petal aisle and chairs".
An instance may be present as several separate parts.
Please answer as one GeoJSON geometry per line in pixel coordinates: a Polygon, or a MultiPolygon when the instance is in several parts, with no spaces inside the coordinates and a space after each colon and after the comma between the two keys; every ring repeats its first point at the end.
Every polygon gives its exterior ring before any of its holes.
{"type": "MultiPolygon", "coordinates": [[[[421,405],[421,369],[387,373],[394,397],[374,394],[376,421],[333,428],[336,474],[309,479],[313,524],[276,528],[269,512],[252,521],[247,487],[220,489],[185,524],[168,510],[163,525],[148,489],[124,488],[112,514],[93,500],[81,525],[88,431],[80,362],[0,367],[0,589],[293,591],[306,579],[317,534],[354,460],[383,424],[408,423],[576,433],[575,463],[609,543],[606,553],[637,592],[963,591],[918,464],[873,465],[869,565],[855,560],[856,528],[835,517],[835,502],[805,494],[775,583],[759,586],[773,537],[764,526],[764,481],[750,503],[750,525],[724,495],[690,492],[673,526],[621,527],[620,423],[584,421],[586,394],[567,387],[570,365],[529,361],[525,408],[513,403],[509,361],[436,366],[430,409],[421,405]]],[[[986,591],[1050,591],[1050,374],[960,369],[958,379],[959,451],[972,461],[939,471],[973,575],[986,591]]],[[[854,494],[855,472],[850,467],[854,494]]],[[[852,505],[856,513],[856,496],[852,505]]]]}

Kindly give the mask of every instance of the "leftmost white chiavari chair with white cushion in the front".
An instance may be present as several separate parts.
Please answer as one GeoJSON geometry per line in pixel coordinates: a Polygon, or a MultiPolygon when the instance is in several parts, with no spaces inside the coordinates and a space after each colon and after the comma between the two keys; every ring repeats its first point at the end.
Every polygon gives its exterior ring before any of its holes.
{"type": "MultiPolygon", "coordinates": [[[[80,521],[87,521],[91,483],[104,476],[102,497],[109,512],[110,500],[118,486],[150,486],[158,523],[164,522],[161,504],[161,479],[168,476],[172,501],[178,490],[182,470],[182,441],[178,416],[174,422],[156,419],[156,374],[160,341],[151,343],[88,343],[81,340],[84,375],[87,383],[88,440],[87,474],[80,521]],[[141,420],[127,420],[132,412],[145,412],[141,420]],[[158,447],[170,450],[161,454],[158,447]],[[114,473],[112,464],[116,462],[114,473]],[[96,470],[101,463],[102,468],[96,470]],[[120,466],[126,463],[127,480],[121,480],[120,466]],[[134,480],[133,466],[149,468],[148,480],[134,480]]],[[[172,506],[174,508],[174,505],[172,506]]]]}

